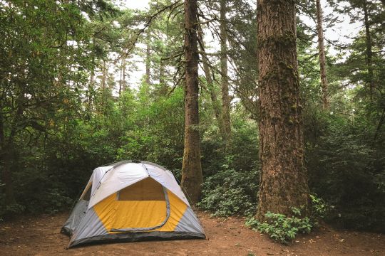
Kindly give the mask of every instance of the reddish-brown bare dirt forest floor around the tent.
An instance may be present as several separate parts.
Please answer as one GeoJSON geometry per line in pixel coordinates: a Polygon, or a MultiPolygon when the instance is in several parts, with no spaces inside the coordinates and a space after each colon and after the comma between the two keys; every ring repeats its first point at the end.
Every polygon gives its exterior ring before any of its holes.
{"type": "Polygon", "coordinates": [[[168,240],[88,245],[66,250],[60,233],[68,214],[19,218],[0,224],[0,255],[385,255],[385,235],[339,231],[323,226],[290,245],[272,242],[245,227],[243,218],[198,213],[206,240],[168,240]]]}

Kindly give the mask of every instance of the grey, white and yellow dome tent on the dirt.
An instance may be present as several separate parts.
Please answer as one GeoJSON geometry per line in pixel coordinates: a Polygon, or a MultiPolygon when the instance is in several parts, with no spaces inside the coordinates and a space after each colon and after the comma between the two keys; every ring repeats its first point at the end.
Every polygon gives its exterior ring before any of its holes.
{"type": "Polygon", "coordinates": [[[205,238],[173,174],[148,161],[93,170],[62,233],[68,247],[98,241],[205,238]]]}

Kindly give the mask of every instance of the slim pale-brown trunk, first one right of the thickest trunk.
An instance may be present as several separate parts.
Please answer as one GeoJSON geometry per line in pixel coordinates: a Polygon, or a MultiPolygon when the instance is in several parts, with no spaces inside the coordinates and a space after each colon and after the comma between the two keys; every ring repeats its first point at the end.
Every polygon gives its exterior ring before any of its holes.
{"type": "Polygon", "coordinates": [[[322,105],[324,110],[329,108],[328,85],[327,85],[327,69],[324,47],[324,28],[322,26],[322,6],[321,1],[316,0],[317,5],[317,33],[318,33],[318,50],[319,50],[319,69],[321,73],[321,89],[322,89],[322,105]]]}

